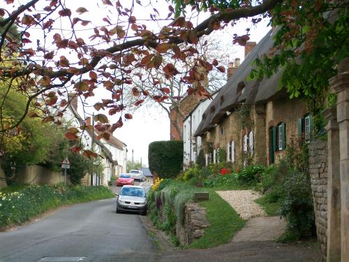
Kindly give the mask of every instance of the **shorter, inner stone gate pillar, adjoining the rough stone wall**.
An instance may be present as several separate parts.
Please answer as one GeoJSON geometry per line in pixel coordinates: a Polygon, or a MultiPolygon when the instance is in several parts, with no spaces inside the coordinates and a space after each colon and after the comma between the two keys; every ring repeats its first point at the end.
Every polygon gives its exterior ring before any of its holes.
{"type": "Polygon", "coordinates": [[[339,124],[336,108],[324,112],[328,124],[327,262],[341,261],[341,175],[339,172],[339,124]]]}

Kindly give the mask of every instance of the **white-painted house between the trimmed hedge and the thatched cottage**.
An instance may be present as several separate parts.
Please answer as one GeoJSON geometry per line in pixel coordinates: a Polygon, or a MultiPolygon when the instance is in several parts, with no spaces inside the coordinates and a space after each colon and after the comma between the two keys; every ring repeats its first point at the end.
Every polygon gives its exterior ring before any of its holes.
{"type": "MultiPolygon", "coordinates": [[[[216,97],[215,92],[212,94],[212,98],[216,97]]],[[[210,99],[200,101],[191,112],[186,116],[183,122],[183,143],[184,143],[184,167],[188,166],[191,162],[195,163],[196,158],[202,147],[201,138],[194,137],[194,133],[200,122],[202,121],[202,113],[211,103],[210,99]]]]}

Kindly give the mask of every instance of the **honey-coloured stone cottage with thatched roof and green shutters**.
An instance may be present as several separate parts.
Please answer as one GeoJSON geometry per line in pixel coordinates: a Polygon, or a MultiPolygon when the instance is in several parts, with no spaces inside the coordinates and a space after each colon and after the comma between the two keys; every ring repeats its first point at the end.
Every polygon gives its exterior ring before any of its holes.
{"type": "Polygon", "coordinates": [[[279,89],[282,69],[271,78],[248,80],[253,60],[272,48],[272,35],[273,30],[251,50],[203,112],[193,136],[209,145],[207,163],[218,161],[219,149],[235,167],[275,163],[287,145],[298,146],[311,136],[312,117],[304,102],[279,89]]]}

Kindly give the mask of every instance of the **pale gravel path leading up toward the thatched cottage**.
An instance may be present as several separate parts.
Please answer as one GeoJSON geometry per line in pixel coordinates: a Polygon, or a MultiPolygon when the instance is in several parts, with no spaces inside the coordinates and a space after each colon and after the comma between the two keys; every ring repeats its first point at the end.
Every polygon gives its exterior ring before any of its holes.
{"type": "Polygon", "coordinates": [[[265,216],[265,211],[255,203],[261,195],[253,190],[217,191],[217,194],[227,201],[242,219],[265,216]]]}

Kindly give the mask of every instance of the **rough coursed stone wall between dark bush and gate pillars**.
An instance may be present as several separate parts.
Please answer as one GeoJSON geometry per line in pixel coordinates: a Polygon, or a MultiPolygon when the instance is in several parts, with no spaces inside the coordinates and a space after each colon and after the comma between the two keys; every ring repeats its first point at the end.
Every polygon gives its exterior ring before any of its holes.
{"type": "Polygon", "coordinates": [[[316,233],[324,258],[327,251],[327,141],[309,145],[309,173],[315,211],[316,233]]]}

